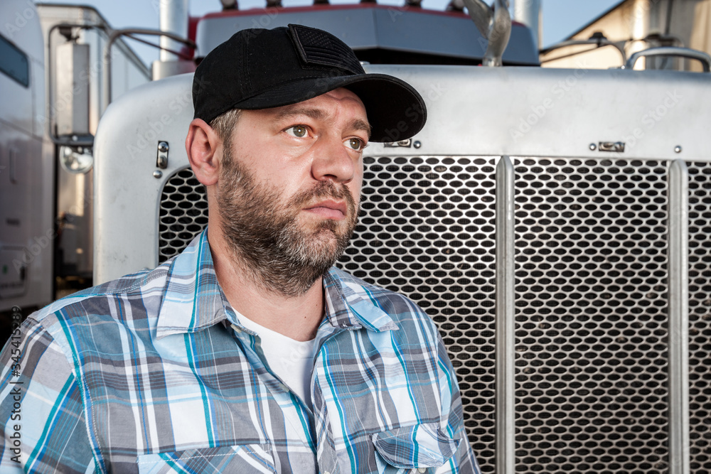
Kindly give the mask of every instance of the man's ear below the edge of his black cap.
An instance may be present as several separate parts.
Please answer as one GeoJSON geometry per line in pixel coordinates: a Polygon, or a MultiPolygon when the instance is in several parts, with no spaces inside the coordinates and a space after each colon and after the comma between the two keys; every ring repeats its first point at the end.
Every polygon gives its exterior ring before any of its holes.
{"type": "Polygon", "coordinates": [[[206,186],[218,182],[222,140],[203,119],[193,119],[185,139],[188,161],[198,181],[206,186]],[[219,150],[219,153],[218,153],[219,150]]]}

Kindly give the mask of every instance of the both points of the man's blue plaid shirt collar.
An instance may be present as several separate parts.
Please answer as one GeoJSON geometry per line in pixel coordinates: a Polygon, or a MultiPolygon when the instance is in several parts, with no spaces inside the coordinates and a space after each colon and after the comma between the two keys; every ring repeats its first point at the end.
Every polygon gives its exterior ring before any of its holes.
{"type": "MultiPolygon", "coordinates": [[[[365,328],[380,332],[397,329],[380,308],[373,291],[363,281],[332,267],[324,274],[326,317],[334,328],[365,328]]],[[[156,323],[156,337],[194,333],[221,321],[234,319],[218,284],[208,232],[204,230],[173,260],[164,287],[164,298],[156,323]]]]}

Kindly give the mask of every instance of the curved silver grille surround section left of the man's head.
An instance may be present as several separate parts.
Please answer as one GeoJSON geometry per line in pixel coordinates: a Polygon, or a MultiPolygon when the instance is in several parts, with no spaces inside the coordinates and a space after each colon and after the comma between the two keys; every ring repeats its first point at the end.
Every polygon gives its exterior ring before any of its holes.
{"type": "Polygon", "coordinates": [[[94,149],[95,283],[158,263],[158,196],[165,178],[188,164],[183,144],[193,118],[191,83],[191,74],[150,82],[113,102],[102,117],[94,149]],[[171,152],[156,179],[159,141],[171,152]]]}

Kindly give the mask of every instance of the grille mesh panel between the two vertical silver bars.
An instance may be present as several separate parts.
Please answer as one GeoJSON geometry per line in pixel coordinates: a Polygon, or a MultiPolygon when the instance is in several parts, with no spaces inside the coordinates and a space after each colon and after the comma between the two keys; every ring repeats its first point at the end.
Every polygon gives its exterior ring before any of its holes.
{"type": "Polygon", "coordinates": [[[666,167],[515,173],[518,472],[666,472],[666,167]]]}

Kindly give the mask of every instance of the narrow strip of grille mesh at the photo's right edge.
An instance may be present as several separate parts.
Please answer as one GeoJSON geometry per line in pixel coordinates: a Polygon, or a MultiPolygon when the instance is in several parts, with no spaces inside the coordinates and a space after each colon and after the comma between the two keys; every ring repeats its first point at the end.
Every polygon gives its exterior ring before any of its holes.
{"type": "Polygon", "coordinates": [[[689,168],[691,471],[711,472],[711,163],[689,168]]]}

